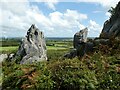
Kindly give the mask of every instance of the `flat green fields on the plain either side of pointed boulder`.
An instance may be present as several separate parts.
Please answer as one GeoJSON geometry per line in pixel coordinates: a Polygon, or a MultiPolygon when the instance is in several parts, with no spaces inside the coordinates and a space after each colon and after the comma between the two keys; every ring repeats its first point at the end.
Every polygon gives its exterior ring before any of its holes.
{"type": "MultiPolygon", "coordinates": [[[[18,50],[20,40],[5,39],[0,43],[2,43],[2,46],[0,46],[1,53],[15,53],[18,50]]],[[[72,48],[72,41],[47,40],[46,45],[47,50],[66,50],[72,48]]]]}

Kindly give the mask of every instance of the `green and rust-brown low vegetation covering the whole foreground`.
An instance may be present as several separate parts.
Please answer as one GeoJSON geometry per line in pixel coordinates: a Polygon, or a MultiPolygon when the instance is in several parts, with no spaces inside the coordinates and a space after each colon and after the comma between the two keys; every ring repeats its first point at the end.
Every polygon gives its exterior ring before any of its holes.
{"type": "MultiPolygon", "coordinates": [[[[120,90],[119,42],[114,41],[111,46],[99,45],[95,52],[86,54],[81,59],[62,58],[70,47],[58,49],[55,46],[48,46],[49,61],[30,65],[4,61],[2,88],[3,90],[120,90]]],[[[61,43],[56,43],[61,46],[61,43]]]]}

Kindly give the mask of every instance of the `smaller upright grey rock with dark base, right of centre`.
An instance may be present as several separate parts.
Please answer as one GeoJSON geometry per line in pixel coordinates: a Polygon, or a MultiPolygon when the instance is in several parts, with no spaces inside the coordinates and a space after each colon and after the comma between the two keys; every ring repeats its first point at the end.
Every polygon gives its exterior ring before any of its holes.
{"type": "Polygon", "coordinates": [[[87,42],[88,29],[82,29],[74,35],[74,49],[64,55],[66,58],[82,57],[85,53],[93,50],[93,43],[87,42]]]}

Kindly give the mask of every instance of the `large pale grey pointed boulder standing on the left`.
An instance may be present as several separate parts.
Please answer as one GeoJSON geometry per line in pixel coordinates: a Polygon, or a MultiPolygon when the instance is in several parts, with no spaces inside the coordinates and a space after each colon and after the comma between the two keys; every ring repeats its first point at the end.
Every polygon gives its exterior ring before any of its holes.
{"type": "Polygon", "coordinates": [[[21,57],[21,64],[31,64],[47,60],[47,50],[44,35],[35,25],[27,31],[26,37],[19,46],[16,57],[21,57]]]}

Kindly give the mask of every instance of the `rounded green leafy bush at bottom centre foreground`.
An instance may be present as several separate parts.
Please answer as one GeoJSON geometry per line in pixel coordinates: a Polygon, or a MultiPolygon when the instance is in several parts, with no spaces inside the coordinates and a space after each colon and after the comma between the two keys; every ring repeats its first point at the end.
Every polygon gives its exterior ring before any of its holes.
{"type": "Polygon", "coordinates": [[[57,61],[49,65],[55,90],[95,89],[97,80],[95,73],[90,71],[78,59],[57,61]]]}

